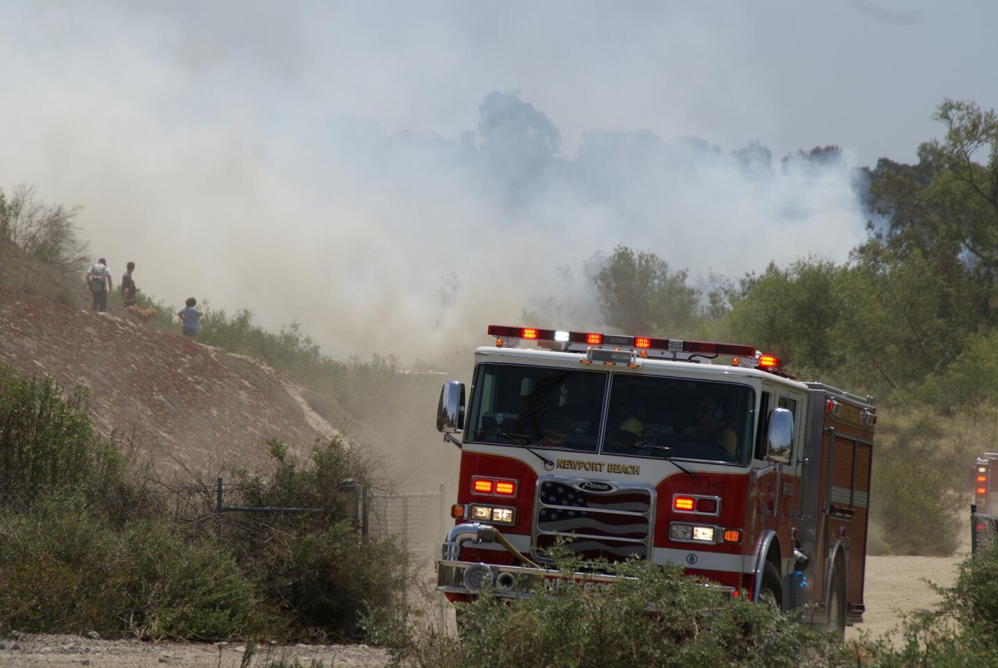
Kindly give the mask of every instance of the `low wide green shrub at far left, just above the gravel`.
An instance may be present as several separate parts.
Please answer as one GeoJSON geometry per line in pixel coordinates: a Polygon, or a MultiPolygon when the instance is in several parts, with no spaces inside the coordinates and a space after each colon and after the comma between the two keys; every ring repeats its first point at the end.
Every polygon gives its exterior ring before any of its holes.
{"type": "Polygon", "coordinates": [[[0,514],[0,626],[219,638],[252,630],[254,603],[225,546],[166,520],[116,530],[79,495],[0,514]]]}

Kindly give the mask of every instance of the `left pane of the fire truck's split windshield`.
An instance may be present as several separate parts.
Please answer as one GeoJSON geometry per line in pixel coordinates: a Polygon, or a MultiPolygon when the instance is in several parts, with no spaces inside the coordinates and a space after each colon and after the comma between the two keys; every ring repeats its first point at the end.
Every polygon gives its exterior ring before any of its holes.
{"type": "Polygon", "coordinates": [[[595,452],[609,375],[479,364],[465,440],[595,452]]]}

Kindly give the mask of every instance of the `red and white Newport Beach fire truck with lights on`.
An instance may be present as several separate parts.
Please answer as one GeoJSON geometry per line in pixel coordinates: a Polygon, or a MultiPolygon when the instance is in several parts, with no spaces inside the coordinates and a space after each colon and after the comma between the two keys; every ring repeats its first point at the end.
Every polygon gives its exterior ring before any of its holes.
{"type": "Polygon", "coordinates": [[[750,345],[488,334],[467,408],[449,381],[437,411],[461,448],[448,599],[578,577],[553,569],[564,543],[584,561],[679,563],[826,628],[862,621],[872,397],[798,382],[750,345]]]}

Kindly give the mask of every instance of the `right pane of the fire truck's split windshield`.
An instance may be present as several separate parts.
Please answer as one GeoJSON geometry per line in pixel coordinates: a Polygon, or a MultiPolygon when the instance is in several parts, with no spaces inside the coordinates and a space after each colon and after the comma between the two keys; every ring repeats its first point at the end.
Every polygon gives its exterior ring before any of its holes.
{"type": "Polygon", "coordinates": [[[754,405],[746,385],[615,373],[603,451],[747,463],[754,405]]]}

